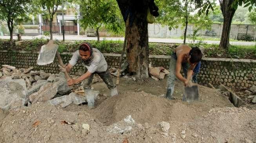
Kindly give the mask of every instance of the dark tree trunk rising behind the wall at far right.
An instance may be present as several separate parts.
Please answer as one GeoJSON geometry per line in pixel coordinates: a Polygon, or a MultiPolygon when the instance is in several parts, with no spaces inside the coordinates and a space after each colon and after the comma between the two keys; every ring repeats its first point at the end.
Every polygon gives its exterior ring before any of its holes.
{"type": "Polygon", "coordinates": [[[220,39],[220,48],[228,50],[229,44],[229,34],[231,29],[232,18],[236,12],[236,9],[232,8],[231,4],[234,0],[223,0],[220,2],[220,9],[222,10],[223,15],[223,28],[222,28],[222,37],[220,39]]]}

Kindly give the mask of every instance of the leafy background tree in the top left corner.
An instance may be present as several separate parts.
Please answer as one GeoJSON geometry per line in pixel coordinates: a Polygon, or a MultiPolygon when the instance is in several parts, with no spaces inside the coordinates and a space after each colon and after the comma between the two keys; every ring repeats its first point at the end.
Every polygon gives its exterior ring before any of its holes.
{"type": "Polygon", "coordinates": [[[0,0],[0,20],[7,22],[10,40],[13,40],[15,22],[28,20],[33,8],[32,0],[0,0]]]}

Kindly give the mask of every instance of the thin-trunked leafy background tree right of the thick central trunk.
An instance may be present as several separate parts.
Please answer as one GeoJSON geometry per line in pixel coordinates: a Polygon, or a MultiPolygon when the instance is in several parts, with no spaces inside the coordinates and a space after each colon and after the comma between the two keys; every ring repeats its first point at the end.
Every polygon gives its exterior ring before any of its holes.
{"type": "Polygon", "coordinates": [[[193,7],[194,0],[156,0],[156,4],[159,5],[160,16],[157,18],[159,23],[168,25],[169,29],[177,28],[179,25],[185,27],[184,44],[186,43],[188,23],[196,23],[196,31],[205,28],[201,25],[211,26],[212,21],[205,14],[201,16],[197,13],[191,14],[196,10],[193,7]]]}

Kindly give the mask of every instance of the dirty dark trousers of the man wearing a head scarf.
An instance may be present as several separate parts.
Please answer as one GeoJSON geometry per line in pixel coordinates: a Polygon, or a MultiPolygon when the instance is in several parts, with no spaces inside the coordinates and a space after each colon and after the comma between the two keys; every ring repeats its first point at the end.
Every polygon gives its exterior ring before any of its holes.
{"type": "Polygon", "coordinates": [[[95,73],[97,73],[102,78],[102,80],[105,82],[105,84],[107,84],[107,88],[113,89],[116,87],[116,86],[114,86],[113,79],[110,76],[109,68],[107,68],[107,70],[104,72],[92,73],[92,75],[88,79],[85,79],[83,81],[85,91],[91,89],[91,83],[93,81],[93,76],[95,73]]]}

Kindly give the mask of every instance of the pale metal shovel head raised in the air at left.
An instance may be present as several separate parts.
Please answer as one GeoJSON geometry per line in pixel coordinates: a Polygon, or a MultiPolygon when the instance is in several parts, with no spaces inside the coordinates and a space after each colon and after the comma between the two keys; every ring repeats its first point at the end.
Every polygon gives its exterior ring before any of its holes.
{"type": "Polygon", "coordinates": [[[58,45],[54,44],[53,40],[50,40],[47,45],[43,45],[41,47],[36,64],[45,65],[45,64],[53,63],[57,49],[58,49],[58,45]]]}

